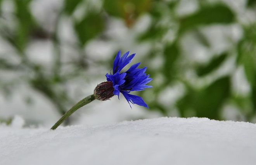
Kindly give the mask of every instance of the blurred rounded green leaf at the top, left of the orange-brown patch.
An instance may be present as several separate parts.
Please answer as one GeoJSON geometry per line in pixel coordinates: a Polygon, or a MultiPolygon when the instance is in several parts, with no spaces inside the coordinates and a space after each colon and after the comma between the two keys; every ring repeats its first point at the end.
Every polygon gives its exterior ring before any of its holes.
{"type": "Polygon", "coordinates": [[[90,13],[80,22],[75,22],[74,29],[82,45],[99,35],[104,29],[104,20],[101,14],[90,13]]]}

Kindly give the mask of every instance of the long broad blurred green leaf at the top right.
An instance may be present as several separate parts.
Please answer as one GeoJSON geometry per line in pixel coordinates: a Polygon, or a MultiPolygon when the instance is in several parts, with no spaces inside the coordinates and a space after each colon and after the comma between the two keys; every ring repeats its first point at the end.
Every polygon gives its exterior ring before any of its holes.
{"type": "Polygon", "coordinates": [[[234,22],[234,13],[221,3],[202,7],[192,15],[180,19],[180,33],[201,25],[229,24],[234,22]]]}

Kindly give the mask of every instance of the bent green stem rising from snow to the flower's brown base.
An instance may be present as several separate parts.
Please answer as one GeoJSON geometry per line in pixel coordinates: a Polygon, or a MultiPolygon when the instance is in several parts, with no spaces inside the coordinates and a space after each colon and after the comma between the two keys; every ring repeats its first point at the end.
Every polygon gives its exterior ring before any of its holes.
{"type": "Polygon", "coordinates": [[[92,102],[93,100],[95,100],[95,96],[94,95],[90,95],[85,97],[84,99],[82,99],[80,102],[76,103],[71,109],[69,109],[55,124],[54,126],[52,126],[51,129],[56,129],[59,125],[61,125],[61,123],[63,121],[65,121],[67,119],[67,117],[69,117],[71,114],[73,114],[76,110],[78,110],[79,108],[83,107],[84,105],[92,102]]]}

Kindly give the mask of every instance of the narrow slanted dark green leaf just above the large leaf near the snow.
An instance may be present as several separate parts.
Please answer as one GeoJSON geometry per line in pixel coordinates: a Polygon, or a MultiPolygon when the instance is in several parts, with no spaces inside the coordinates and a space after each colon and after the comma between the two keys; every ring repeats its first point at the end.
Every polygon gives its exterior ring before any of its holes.
{"type": "Polygon", "coordinates": [[[227,53],[223,53],[220,56],[213,58],[207,65],[199,65],[196,68],[196,73],[198,76],[204,76],[210,73],[211,71],[218,68],[223,61],[227,58],[227,53]]]}

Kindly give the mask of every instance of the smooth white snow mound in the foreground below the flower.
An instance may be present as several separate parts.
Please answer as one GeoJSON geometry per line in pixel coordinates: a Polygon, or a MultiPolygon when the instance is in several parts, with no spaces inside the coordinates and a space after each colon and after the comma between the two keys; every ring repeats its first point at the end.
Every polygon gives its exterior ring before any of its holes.
{"type": "MultiPolygon", "coordinates": [[[[16,119],[21,121],[21,119],[16,119]]],[[[19,122],[16,123],[19,125],[19,122]]],[[[161,117],[97,126],[0,125],[1,165],[254,165],[256,124],[161,117]]]]}

